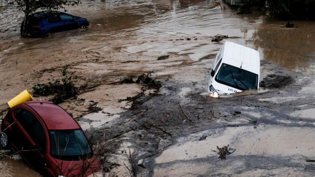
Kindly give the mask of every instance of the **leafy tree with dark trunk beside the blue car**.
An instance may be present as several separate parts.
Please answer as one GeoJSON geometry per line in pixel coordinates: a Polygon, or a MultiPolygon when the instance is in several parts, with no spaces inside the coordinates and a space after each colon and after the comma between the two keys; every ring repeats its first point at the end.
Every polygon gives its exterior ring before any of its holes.
{"type": "Polygon", "coordinates": [[[36,10],[58,10],[64,6],[74,6],[81,3],[81,0],[6,0],[8,4],[17,5],[20,11],[24,12],[23,24],[21,23],[21,37],[26,37],[29,16],[36,10]]]}

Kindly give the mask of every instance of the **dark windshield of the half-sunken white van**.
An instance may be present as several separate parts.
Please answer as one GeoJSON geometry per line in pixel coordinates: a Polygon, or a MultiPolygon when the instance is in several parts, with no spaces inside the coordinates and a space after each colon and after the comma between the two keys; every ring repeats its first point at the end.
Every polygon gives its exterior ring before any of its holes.
{"type": "Polygon", "coordinates": [[[258,75],[223,63],[215,81],[239,90],[257,89],[258,75]]]}

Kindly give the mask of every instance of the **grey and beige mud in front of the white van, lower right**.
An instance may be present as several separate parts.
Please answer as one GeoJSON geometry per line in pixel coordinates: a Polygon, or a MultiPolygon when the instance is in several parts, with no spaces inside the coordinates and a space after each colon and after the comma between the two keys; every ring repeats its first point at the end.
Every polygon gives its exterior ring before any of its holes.
{"type": "Polygon", "coordinates": [[[314,95],[302,88],[309,78],[266,61],[262,68],[295,82],[213,99],[206,80],[164,81],[163,94],[105,125],[105,137],[120,134],[139,152],[143,176],[312,175],[314,95]],[[217,146],[235,152],[221,160],[217,146]]]}

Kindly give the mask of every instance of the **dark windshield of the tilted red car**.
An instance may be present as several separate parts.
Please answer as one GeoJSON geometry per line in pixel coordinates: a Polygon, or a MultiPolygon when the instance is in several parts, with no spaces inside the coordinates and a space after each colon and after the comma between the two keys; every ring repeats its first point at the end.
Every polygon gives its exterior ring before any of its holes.
{"type": "Polygon", "coordinates": [[[50,154],[62,160],[80,160],[92,156],[88,140],[81,129],[50,130],[50,154]]]}

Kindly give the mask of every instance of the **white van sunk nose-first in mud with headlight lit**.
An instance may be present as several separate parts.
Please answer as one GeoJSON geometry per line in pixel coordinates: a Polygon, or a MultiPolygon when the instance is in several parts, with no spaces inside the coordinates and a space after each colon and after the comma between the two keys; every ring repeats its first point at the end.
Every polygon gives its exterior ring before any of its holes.
{"type": "Polygon", "coordinates": [[[225,42],[215,58],[210,75],[208,92],[212,97],[258,89],[259,53],[236,43],[225,42]]]}

